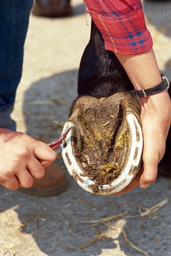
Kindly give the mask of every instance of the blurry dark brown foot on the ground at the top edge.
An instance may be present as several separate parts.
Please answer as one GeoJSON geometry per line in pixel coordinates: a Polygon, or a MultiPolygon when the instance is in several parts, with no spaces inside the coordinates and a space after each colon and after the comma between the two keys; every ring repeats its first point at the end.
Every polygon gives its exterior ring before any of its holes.
{"type": "Polygon", "coordinates": [[[45,17],[63,17],[72,12],[70,0],[34,0],[32,14],[45,17]]]}

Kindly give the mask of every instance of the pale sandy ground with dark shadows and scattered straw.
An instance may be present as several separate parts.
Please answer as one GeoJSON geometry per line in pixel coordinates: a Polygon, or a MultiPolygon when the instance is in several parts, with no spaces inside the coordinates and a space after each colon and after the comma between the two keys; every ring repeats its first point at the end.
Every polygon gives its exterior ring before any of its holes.
{"type": "MultiPolygon", "coordinates": [[[[68,119],[90,35],[83,2],[72,0],[72,6],[71,17],[30,17],[12,116],[18,131],[46,143],[61,134],[62,127],[53,121],[68,119]]],[[[171,80],[171,2],[145,1],[144,8],[159,68],[171,80]]],[[[57,152],[57,163],[66,172],[57,152]]],[[[170,179],[159,176],[148,189],[107,197],[83,191],[66,175],[69,188],[58,196],[32,196],[0,186],[1,256],[171,255],[170,179]]]]}

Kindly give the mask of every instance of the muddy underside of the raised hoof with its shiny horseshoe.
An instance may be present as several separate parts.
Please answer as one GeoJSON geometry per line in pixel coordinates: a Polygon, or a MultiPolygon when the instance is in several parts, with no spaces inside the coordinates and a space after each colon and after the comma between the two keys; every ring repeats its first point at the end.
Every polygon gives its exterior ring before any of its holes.
{"type": "Polygon", "coordinates": [[[143,148],[139,113],[139,103],[125,92],[100,99],[83,95],[74,102],[63,133],[74,129],[63,140],[61,154],[83,190],[115,194],[137,175],[143,148]]]}

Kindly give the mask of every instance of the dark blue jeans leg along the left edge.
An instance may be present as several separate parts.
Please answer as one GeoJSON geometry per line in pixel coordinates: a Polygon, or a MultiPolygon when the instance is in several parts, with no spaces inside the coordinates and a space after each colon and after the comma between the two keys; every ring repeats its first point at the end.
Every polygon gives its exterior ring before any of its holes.
{"type": "Polygon", "coordinates": [[[23,44],[33,0],[0,2],[0,128],[15,130],[10,118],[23,65],[23,44]]]}

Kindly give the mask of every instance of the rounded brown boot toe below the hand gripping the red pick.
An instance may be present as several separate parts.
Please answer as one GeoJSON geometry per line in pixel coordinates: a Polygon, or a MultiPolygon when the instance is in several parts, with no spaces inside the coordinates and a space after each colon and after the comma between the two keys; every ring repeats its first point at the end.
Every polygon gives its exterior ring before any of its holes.
{"type": "Polygon", "coordinates": [[[42,179],[34,179],[32,188],[19,188],[19,190],[37,196],[52,196],[63,192],[67,187],[66,175],[57,165],[51,163],[46,167],[46,173],[42,179]]]}

